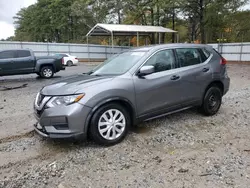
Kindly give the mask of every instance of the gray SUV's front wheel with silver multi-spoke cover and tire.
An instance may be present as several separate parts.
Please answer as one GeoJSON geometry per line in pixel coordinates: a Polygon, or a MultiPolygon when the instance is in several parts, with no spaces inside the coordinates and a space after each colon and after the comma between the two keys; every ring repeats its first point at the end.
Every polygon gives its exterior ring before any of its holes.
{"type": "Polygon", "coordinates": [[[126,137],[129,127],[130,116],[127,110],[119,104],[109,103],[101,106],[94,113],[90,122],[90,137],[97,144],[112,146],[120,143],[126,137]]]}

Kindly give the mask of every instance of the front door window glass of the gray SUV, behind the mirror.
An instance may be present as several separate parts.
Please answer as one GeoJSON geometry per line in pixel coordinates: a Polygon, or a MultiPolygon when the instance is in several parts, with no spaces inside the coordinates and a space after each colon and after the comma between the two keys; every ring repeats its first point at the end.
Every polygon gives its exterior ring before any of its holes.
{"type": "Polygon", "coordinates": [[[162,50],[154,54],[144,66],[152,65],[155,72],[167,71],[175,68],[175,57],[172,50],[162,50]]]}

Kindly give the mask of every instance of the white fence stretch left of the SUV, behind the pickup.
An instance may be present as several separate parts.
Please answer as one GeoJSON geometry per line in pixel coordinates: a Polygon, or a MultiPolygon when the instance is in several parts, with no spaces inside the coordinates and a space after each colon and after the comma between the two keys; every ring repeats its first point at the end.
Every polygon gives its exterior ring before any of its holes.
{"type": "Polygon", "coordinates": [[[31,49],[36,56],[46,56],[55,53],[68,53],[83,59],[107,59],[112,54],[128,49],[123,46],[104,46],[93,44],[66,44],[40,42],[9,42],[0,41],[0,50],[31,49]]]}

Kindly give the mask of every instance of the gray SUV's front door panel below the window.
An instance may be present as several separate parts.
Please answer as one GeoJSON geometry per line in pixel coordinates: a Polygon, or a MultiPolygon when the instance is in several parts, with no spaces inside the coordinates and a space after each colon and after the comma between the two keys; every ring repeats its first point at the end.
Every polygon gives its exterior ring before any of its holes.
{"type": "Polygon", "coordinates": [[[134,76],[138,115],[161,111],[181,104],[182,78],[178,69],[151,74],[140,78],[134,76]]]}

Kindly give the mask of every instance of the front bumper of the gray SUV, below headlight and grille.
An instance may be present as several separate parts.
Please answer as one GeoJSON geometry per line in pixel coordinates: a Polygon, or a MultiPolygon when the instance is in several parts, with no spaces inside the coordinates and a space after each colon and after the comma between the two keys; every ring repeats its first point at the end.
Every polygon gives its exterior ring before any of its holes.
{"type": "Polygon", "coordinates": [[[75,103],[38,111],[35,108],[35,131],[43,137],[71,138],[86,137],[86,119],[91,108],[75,103]]]}

